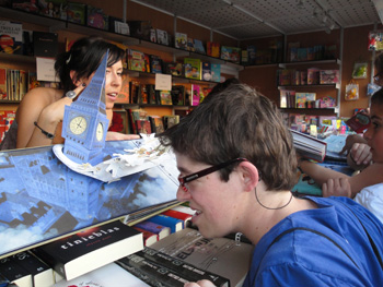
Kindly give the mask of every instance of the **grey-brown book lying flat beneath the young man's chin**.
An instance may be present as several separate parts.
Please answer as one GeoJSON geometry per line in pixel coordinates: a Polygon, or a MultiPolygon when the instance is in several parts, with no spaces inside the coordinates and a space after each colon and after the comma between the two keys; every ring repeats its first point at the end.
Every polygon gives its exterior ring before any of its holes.
{"type": "Polygon", "coordinates": [[[241,286],[249,268],[254,246],[230,238],[207,239],[193,228],[172,234],[150,247],[241,286]]]}

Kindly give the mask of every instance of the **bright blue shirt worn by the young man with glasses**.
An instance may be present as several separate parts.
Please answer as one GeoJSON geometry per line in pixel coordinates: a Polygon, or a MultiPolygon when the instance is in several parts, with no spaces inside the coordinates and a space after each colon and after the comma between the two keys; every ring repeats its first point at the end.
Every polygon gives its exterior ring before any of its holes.
{"type": "Polygon", "coordinates": [[[355,214],[382,256],[383,225],[379,219],[350,199],[306,199],[316,202],[318,208],[289,215],[259,240],[243,286],[383,286],[383,271],[355,214]],[[271,244],[280,234],[295,227],[314,229],[329,239],[294,230],[271,244]]]}

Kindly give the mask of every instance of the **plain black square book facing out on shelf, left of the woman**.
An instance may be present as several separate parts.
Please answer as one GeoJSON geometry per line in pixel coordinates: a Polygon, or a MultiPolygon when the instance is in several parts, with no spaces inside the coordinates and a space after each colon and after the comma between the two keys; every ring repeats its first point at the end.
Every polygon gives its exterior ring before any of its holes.
{"type": "Polygon", "coordinates": [[[34,31],[33,51],[35,57],[55,58],[58,53],[58,34],[34,31]]]}

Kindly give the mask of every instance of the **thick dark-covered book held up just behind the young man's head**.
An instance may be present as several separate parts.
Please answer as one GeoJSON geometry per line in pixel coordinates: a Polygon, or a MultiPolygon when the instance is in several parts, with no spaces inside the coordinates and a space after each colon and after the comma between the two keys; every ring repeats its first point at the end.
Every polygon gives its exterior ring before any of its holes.
{"type": "Polygon", "coordinates": [[[327,143],[309,134],[291,130],[293,145],[306,158],[322,163],[326,156],[327,143]]]}

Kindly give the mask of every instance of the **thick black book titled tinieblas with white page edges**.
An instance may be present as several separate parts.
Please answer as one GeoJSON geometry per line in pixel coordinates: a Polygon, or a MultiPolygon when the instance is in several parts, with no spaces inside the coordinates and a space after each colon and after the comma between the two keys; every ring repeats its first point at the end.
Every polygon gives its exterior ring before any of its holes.
{"type": "Polygon", "coordinates": [[[116,220],[37,247],[33,253],[70,280],[142,248],[142,234],[116,220]]]}

